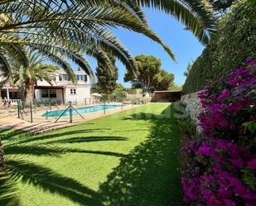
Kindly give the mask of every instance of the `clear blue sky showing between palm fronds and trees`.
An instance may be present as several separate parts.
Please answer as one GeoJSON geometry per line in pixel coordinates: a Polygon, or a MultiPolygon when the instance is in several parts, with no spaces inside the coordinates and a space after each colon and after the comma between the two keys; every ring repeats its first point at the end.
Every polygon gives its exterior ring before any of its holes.
{"type": "MultiPolygon", "coordinates": [[[[145,9],[145,12],[152,30],[160,36],[167,46],[171,47],[171,50],[176,55],[176,63],[171,60],[171,57],[162,49],[162,46],[146,36],[122,28],[114,29],[114,33],[132,55],[145,54],[156,56],[162,60],[162,69],[175,75],[175,83],[178,85],[184,84],[186,78],[183,73],[188,62],[196,60],[204,46],[192,35],[191,31],[184,30],[185,26],[177,22],[173,17],[162,12],[153,11],[152,9],[145,9]]],[[[95,60],[89,58],[89,63],[95,69],[95,60]]],[[[126,87],[130,87],[129,83],[123,82],[125,67],[120,62],[117,62],[117,66],[119,72],[118,82],[126,87]]]]}

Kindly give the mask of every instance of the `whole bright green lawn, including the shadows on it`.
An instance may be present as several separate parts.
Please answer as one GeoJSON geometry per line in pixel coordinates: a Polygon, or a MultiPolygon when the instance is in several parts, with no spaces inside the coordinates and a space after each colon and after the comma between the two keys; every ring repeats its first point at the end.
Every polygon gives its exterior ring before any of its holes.
{"type": "Polygon", "coordinates": [[[0,205],[182,205],[170,113],[169,103],[151,103],[42,135],[0,132],[11,175],[0,178],[0,205]]]}

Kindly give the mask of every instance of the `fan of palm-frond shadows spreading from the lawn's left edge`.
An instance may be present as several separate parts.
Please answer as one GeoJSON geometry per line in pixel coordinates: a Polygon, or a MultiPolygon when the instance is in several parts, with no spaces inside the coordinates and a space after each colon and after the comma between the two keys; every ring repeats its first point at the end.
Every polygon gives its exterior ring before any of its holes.
{"type": "Polygon", "coordinates": [[[60,175],[50,168],[36,165],[24,160],[26,156],[60,156],[65,153],[84,153],[102,156],[124,157],[122,153],[113,151],[89,151],[56,146],[54,143],[83,143],[89,141],[126,141],[125,137],[70,137],[56,141],[36,144],[37,140],[55,139],[56,137],[69,137],[85,132],[99,132],[102,129],[89,129],[80,131],[60,132],[44,137],[38,137],[20,130],[1,131],[0,137],[6,141],[4,147],[6,154],[6,169],[0,172],[0,205],[18,206],[17,181],[32,184],[36,188],[59,194],[80,205],[100,206],[99,195],[92,189],[80,184],[78,181],[60,175]],[[30,145],[31,143],[31,145],[30,145]]]}

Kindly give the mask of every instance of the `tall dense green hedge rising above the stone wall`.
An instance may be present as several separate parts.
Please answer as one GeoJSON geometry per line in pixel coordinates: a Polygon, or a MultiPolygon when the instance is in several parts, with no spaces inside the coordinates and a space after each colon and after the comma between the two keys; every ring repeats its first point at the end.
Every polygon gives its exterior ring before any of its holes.
{"type": "Polygon", "coordinates": [[[196,59],[183,85],[183,93],[204,89],[243,62],[256,56],[256,0],[238,0],[221,17],[216,36],[196,59]]]}

